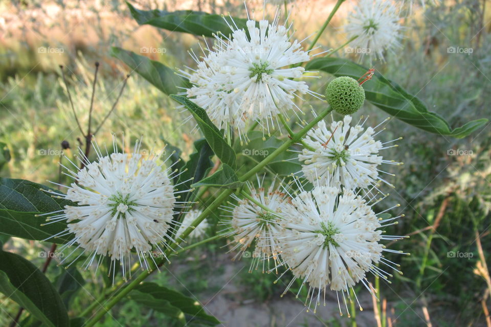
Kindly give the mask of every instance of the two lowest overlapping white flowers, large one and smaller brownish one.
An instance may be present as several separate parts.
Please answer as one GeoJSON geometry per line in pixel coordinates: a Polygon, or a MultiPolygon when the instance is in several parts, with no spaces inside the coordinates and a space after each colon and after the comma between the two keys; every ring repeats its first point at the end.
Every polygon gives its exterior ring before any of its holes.
{"type": "MultiPolygon", "coordinates": [[[[362,196],[329,185],[305,191],[299,180],[291,185],[297,189],[293,193],[288,190],[291,187],[274,182],[267,191],[252,189],[251,198],[239,199],[229,208],[232,219],[228,235],[237,242],[232,249],[240,248],[237,255],[255,248],[264,253],[260,258],[263,271],[264,261],[270,258],[275,259],[275,267],[269,271],[280,266],[287,268],[285,272],[292,271],[295,278],[302,279],[302,286],[308,285],[305,305],[314,311],[327,288],[342,292],[345,305],[346,298],[352,300],[349,289],[357,283],[372,292],[366,282],[367,272],[386,280],[391,276],[378,264],[400,272],[397,264],[384,258],[383,252],[401,252],[386,249],[380,241],[402,237],[383,236],[380,228],[396,224],[395,220],[404,215],[377,217],[398,205],[375,214],[372,205],[382,199],[376,199],[372,190],[362,196]]],[[[251,269],[258,267],[258,260],[254,259],[251,269]]],[[[283,295],[293,282],[287,284],[283,295]]],[[[322,298],[325,300],[325,294],[322,298]]]]}

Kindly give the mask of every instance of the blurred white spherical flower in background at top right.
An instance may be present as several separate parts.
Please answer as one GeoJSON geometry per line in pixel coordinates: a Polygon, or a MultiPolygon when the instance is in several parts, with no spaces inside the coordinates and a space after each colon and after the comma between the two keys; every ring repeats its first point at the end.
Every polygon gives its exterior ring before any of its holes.
{"type": "Polygon", "coordinates": [[[400,44],[399,20],[399,7],[390,0],[361,0],[348,15],[344,31],[348,38],[356,37],[350,46],[384,60],[384,52],[400,44]]]}

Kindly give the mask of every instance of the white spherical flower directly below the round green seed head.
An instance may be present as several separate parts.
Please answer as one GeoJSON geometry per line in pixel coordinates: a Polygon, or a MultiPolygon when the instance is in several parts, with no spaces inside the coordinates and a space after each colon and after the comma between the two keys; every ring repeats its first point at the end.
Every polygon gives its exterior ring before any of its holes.
{"type": "Polygon", "coordinates": [[[385,145],[396,140],[375,141],[373,136],[378,134],[375,129],[380,124],[365,129],[365,122],[350,126],[351,120],[351,116],[346,115],[343,121],[332,122],[329,128],[321,121],[307,133],[303,139],[306,148],[298,156],[304,161],[304,177],[315,185],[329,184],[337,188],[343,185],[348,189],[367,189],[378,181],[389,184],[379,175],[383,171],[378,166],[399,165],[400,162],[384,160],[378,152],[393,147],[385,145]]]}

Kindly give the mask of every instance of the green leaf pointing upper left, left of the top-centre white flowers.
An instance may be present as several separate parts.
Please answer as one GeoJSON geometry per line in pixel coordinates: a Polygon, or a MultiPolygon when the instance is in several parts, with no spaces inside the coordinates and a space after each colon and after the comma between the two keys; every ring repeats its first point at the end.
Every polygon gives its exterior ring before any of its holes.
{"type": "Polygon", "coordinates": [[[133,71],[167,95],[181,92],[181,87],[190,87],[187,79],[175,74],[171,68],[158,61],[115,46],[111,48],[111,56],[123,61],[133,71]]]}

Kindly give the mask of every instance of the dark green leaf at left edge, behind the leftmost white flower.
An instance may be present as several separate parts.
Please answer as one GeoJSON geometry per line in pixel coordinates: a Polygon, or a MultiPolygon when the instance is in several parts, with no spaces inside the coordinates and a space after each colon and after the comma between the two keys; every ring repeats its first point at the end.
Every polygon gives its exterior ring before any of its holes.
{"type": "MultiPolygon", "coordinates": [[[[45,240],[66,229],[65,221],[41,226],[46,223],[47,217],[36,215],[59,211],[65,205],[77,204],[51,197],[40,189],[54,191],[47,186],[24,179],[0,178],[0,233],[29,240],[45,240]]],[[[73,234],[70,234],[49,241],[66,243],[73,237],[73,234]]]]}

